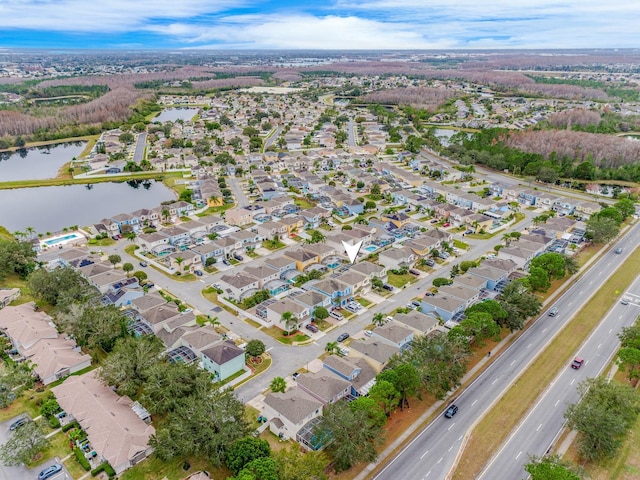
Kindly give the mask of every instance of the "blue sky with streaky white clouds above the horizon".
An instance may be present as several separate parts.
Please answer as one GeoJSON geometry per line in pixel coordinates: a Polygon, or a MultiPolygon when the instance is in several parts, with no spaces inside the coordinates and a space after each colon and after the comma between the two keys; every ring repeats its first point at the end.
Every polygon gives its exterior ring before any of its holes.
{"type": "Polygon", "coordinates": [[[0,47],[640,47],[640,1],[0,0],[0,47]]]}

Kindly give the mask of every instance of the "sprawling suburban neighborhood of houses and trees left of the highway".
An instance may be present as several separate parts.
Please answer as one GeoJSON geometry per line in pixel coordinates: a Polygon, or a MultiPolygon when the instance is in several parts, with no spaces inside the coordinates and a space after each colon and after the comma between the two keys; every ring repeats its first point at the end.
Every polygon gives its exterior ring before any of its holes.
{"type": "MultiPolygon", "coordinates": [[[[637,114],[640,102],[393,69],[283,70],[290,79],[268,86],[239,75],[203,93],[226,77],[184,68],[188,81],[127,71],[158,89],[139,100],[149,110],[65,163],[87,191],[127,182],[143,201],[1,240],[28,254],[0,269],[1,406],[27,405],[3,417],[12,436],[0,441],[31,432],[37,454],[55,452],[51,475],[258,480],[236,457],[266,448],[273,478],[299,478],[282,473],[281,451],[321,464],[313,478],[356,478],[420,415],[463,412],[467,375],[556,316],[543,312],[564,282],[635,228],[631,181],[572,182],[586,177],[549,157],[499,162],[564,116],[637,114]],[[492,129],[512,150],[474,140],[492,129]],[[171,198],[147,204],[160,184],[171,198]],[[181,476],[140,473],[156,461],[181,476]]],[[[36,453],[7,465],[36,468],[36,453]]]]}

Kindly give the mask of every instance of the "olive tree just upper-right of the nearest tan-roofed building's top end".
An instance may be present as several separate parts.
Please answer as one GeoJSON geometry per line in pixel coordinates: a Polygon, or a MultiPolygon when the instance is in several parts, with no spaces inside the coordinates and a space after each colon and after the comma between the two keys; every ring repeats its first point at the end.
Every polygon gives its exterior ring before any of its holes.
{"type": "Polygon", "coordinates": [[[115,386],[120,395],[132,397],[149,380],[152,367],[164,350],[155,335],[120,338],[98,370],[98,376],[107,385],[115,386]]]}

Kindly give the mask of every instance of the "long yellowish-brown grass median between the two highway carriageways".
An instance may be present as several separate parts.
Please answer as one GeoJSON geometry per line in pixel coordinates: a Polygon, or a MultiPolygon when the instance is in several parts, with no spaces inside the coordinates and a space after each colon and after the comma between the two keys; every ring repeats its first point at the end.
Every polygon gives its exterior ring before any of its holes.
{"type": "Polygon", "coordinates": [[[619,293],[616,292],[624,292],[639,270],[640,249],[637,249],[476,425],[454,479],[474,478],[480,472],[558,371],[566,367],[611,305],[618,301],[619,293]]]}

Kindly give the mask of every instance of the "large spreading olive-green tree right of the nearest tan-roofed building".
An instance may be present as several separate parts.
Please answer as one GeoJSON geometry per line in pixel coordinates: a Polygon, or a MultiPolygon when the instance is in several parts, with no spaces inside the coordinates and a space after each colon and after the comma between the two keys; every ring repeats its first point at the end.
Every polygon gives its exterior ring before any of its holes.
{"type": "Polygon", "coordinates": [[[200,456],[218,466],[233,442],[248,434],[244,405],[230,389],[209,388],[180,399],[149,441],[158,458],[200,456]]]}

